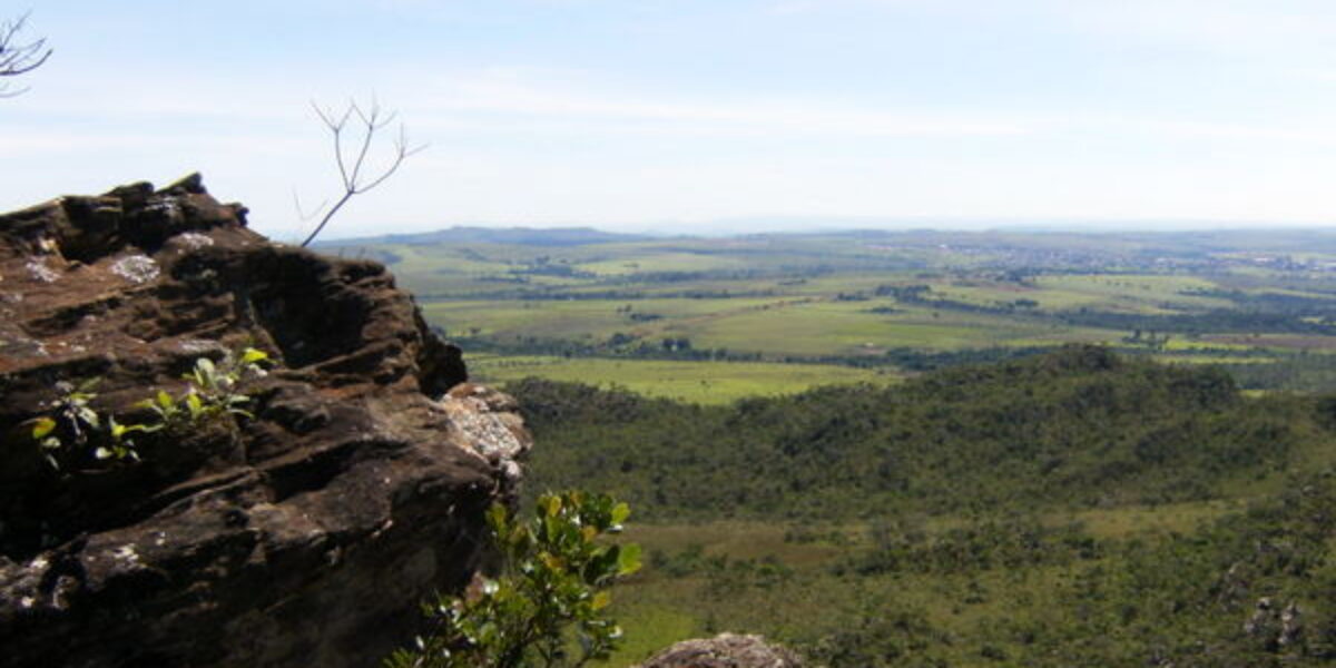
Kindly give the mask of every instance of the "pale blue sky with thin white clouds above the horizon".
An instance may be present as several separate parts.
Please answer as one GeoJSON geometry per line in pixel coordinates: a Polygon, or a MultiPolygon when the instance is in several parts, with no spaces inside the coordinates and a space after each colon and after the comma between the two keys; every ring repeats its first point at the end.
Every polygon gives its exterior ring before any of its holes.
{"type": "Polygon", "coordinates": [[[1336,212],[1331,1],[32,1],[3,210],[198,170],[294,239],[374,94],[430,146],[331,235],[1336,212]]]}

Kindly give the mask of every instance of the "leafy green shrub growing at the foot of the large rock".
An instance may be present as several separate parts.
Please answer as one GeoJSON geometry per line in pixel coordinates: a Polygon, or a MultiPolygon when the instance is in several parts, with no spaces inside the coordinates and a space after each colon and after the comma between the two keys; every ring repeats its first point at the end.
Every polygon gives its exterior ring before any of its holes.
{"type": "Polygon", "coordinates": [[[433,632],[391,655],[387,668],[570,667],[607,659],[621,628],[607,616],[608,588],[640,568],[640,546],[608,544],[631,513],[607,494],[544,494],[518,521],[488,512],[501,573],[465,596],[424,607],[433,632]]]}

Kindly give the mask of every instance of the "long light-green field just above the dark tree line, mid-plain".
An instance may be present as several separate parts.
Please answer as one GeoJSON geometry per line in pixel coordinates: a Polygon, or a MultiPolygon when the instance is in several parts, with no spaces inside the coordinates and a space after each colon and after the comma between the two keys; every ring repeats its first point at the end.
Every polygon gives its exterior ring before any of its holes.
{"type": "Polygon", "coordinates": [[[657,345],[688,338],[692,347],[771,358],[880,354],[886,349],[962,350],[1117,342],[1125,333],[1074,327],[1026,314],[906,306],[890,298],[812,297],[703,299],[442,301],[424,314],[450,335],[585,343],[624,334],[657,345]]]}

